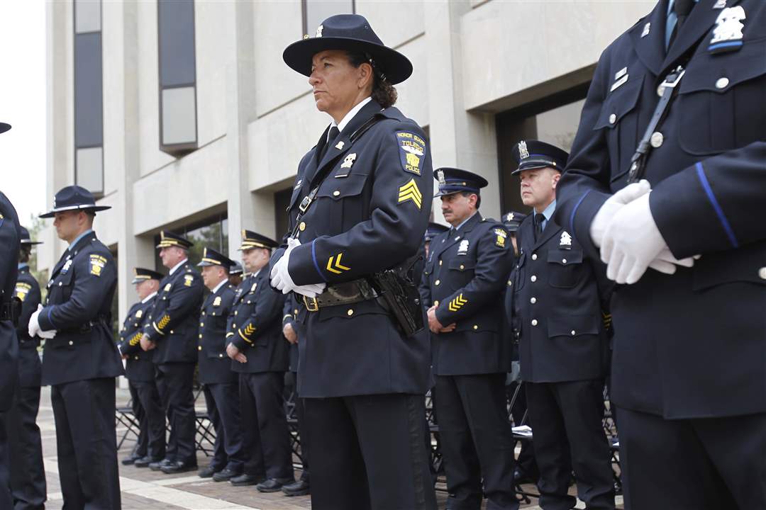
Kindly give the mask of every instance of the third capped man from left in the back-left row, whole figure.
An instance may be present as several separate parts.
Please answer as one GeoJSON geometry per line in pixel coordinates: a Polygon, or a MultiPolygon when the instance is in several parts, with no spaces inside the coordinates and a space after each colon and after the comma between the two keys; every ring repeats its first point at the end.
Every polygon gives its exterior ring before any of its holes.
{"type": "Polygon", "coordinates": [[[244,466],[238,377],[226,355],[226,323],[234,303],[228,278],[232,265],[234,261],[211,248],[204,249],[198,264],[210,291],[199,320],[199,382],[205,385],[208,415],[215,428],[213,459],[199,476],[212,476],[216,482],[239,476],[244,466]]]}

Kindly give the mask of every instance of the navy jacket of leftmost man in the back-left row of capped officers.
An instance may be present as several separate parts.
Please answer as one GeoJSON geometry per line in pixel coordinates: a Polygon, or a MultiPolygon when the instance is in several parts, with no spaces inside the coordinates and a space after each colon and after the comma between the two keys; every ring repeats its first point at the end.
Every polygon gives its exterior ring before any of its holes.
{"type": "Polygon", "coordinates": [[[133,304],[128,310],[128,315],[123,322],[123,329],[119,331],[119,352],[128,355],[125,361],[125,376],[129,381],[151,382],[154,381],[154,353],[156,349],[145,351],[141,349],[141,336],[143,328],[152,318],[152,307],[157,296],[133,304]]]}

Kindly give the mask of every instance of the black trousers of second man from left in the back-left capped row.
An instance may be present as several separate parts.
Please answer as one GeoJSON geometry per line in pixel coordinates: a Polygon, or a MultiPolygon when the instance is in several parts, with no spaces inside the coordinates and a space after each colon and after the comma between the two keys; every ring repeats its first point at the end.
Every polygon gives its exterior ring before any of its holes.
{"type": "Polygon", "coordinates": [[[165,456],[174,461],[197,463],[195,448],[194,363],[156,365],[156,382],[162,407],[168,415],[170,436],[165,456]]]}

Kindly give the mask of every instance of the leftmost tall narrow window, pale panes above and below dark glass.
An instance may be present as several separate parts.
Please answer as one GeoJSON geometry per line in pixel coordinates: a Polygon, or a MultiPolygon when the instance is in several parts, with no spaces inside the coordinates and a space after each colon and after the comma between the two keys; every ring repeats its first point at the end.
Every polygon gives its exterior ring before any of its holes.
{"type": "Polygon", "coordinates": [[[74,180],[103,196],[101,2],[74,2],[74,180]]]}

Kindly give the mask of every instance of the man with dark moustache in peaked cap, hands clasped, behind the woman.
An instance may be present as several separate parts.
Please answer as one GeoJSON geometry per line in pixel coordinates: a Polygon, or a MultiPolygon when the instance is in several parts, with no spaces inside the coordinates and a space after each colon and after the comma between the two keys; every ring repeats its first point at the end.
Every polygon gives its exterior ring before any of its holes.
{"type": "Polygon", "coordinates": [[[499,294],[510,271],[508,233],[479,213],[487,181],[439,168],[441,211],[452,228],[431,241],[423,281],[432,333],[439,434],[450,508],[519,508],[506,414],[509,343],[499,294]],[[482,487],[483,479],[483,487],[482,487]]]}

